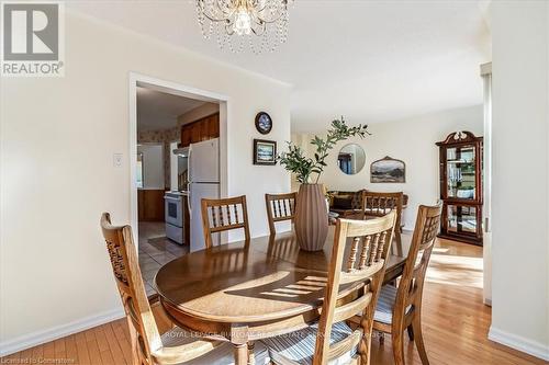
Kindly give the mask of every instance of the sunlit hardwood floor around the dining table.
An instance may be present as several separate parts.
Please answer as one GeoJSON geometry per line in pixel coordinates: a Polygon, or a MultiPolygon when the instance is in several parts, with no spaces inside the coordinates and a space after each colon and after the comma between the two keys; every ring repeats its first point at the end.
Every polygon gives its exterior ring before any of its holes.
{"type": "MultiPolygon", "coordinates": [[[[158,313],[158,317],[161,317],[158,313]]],[[[486,339],[490,307],[482,304],[482,249],[440,240],[432,255],[424,294],[423,331],[430,364],[547,364],[486,339]]],[[[166,329],[166,321],[159,324],[166,329]]],[[[131,364],[125,319],[38,345],[0,364],[131,364]]],[[[421,364],[414,343],[405,342],[406,364],[421,364]]],[[[372,340],[372,364],[393,364],[391,339],[372,340]]]]}

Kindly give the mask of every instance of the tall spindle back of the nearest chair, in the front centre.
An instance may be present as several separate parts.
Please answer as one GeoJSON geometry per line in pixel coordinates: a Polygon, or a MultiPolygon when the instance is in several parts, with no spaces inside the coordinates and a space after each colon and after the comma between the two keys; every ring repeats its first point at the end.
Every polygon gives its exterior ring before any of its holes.
{"type": "Polygon", "coordinates": [[[395,212],[371,220],[337,220],[313,357],[314,365],[324,365],[357,344],[360,344],[360,363],[369,363],[373,313],[383,282],[395,221],[395,212]],[[341,298],[339,296],[341,285],[357,285],[358,297],[341,298]],[[333,323],[351,318],[358,312],[363,312],[361,327],[347,339],[330,346],[333,323]]]}

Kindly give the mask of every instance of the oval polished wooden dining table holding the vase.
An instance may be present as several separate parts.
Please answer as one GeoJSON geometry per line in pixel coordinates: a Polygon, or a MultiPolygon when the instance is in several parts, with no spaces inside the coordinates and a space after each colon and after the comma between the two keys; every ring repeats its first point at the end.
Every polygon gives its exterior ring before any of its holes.
{"type": "MultiPolygon", "coordinates": [[[[236,364],[246,364],[254,341],[303,329],[320,317],[334,230],[316,252],[301,250],[289,231],[182,255],[156,274],[160,303],[181,328],[233,343],[236,364]]],[[[385,283],[402,274],[410,236],[403,235],[402,255],[389,255],[385,283]]],[[[351,299],[358,289],[341,286],[339,298],[351,299]]]]}

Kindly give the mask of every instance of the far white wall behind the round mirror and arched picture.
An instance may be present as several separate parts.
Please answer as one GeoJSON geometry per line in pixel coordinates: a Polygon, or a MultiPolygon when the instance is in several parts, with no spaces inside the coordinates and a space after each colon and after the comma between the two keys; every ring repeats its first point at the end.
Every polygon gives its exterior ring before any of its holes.
{"type": "MultiPolygon", "coordinates": [[[[348,121],[348,124],[354,123],[348,121]]],[[[327,185],[328,190],[403,191],[408,195],[408,207],[403,217],[405,228],[414,229],[417,206],[435,204],[439,198],[439,158],[438,147],[435,144],[456,130],[469,130],[477,136],[482,136],[483,111],[482,105],[477,105],[391,123],[371,124],[368,129],[371,136],[363,139],[352,138],[336,146],[329,156],[328,167],[321,181],[327,185]],[[339,149],[350,141],[362,146],[366,151],[366,166],[355,175],[347,175],[337,167],[339,149]],[[405,183],[370,183],[370,164],[385,156],[406,163],[405,183]]],[[[312,136],[293,135],[292,138],[303,146],[303,144],[309,144],[312,136]]],[[[311,153],[311,147],[309,151],[311,153]]]]}

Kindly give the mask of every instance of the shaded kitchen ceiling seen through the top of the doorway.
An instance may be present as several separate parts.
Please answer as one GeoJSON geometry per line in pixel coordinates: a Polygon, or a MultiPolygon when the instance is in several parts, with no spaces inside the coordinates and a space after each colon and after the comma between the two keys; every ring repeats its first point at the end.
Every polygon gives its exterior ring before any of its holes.
{"type": "Polygon", "coordinates": [[[137,130],[169,129],[177,117],[205,102],[137,88],[137,130]]]}

